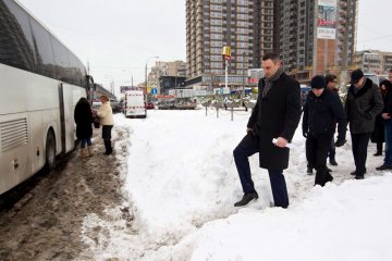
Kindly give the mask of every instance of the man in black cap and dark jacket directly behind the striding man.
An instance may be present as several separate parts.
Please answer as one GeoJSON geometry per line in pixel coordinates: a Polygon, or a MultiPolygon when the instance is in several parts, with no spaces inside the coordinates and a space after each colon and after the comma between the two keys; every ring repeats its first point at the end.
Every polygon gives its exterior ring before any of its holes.
{"type": "Polygon", "coordinates": [[[327,157],[338,123],[335,146],[345,144],[346,115],[336,92],[327,88],[326,79],[316,75],[304,107],[303,135],[306,138],[306,159],[316,169],[315,185],[324,186],[333,179],[327,167],[327,157]]]}

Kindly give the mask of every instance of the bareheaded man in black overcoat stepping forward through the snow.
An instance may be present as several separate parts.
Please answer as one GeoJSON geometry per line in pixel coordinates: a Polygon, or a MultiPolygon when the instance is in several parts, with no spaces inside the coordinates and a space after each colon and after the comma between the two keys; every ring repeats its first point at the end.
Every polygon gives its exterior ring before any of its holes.
{"type": "Polygon", "coordinates": [[[245,206],[258,198],[248,157],[259,152],[259,166],[268,170],[274,206],[287,208],[283,170],[289,166],[290,150],[286,145],[301,119],[301,88],[283,72],[277,53],[265,54],[261,66],[266,76],[258,83],[259,95],[247,123],[247,134],[233,151],[244,191],[243,198],[234,206],[245,206]]]}

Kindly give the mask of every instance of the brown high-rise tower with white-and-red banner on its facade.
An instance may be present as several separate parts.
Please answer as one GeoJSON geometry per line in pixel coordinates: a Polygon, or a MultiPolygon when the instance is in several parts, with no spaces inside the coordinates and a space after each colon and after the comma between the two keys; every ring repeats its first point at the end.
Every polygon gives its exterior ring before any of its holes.
{"type": "Polygon", "coordinates": [[[275,1],[274,50],[297,79],[354,63],[357,0],[275,1]]]}

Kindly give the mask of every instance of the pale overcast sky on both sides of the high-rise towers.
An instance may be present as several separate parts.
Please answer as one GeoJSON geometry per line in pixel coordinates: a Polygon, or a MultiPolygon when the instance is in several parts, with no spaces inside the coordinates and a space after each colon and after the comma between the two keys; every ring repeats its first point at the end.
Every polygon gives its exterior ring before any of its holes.
{"type": "MultiPolygon", "coordinates": [[[[185,0],[19,1],[106,87],[144,82],[146,63],[186,59],[185,0]]],[[[359,0],[357,50],[392,52],[391,10],[391,0],[359,0]]]]}

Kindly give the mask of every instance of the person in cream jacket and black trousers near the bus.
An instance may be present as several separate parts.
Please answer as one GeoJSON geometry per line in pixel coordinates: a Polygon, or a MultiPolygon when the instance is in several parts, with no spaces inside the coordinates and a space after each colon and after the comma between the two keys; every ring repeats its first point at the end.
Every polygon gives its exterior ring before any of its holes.
{"type": "Polygon", "coordinates": [[[99,116],[100,125],[102,126],[102,139],[105,144],[103,154],[109,156],[113,152],[111,146],[111,130],[114,125],[113,112],[110,105],[109,98],[107,96],[101,96],[99,99],[102,102],[102,104],[99,108],[97,115],[99,116]]]}

